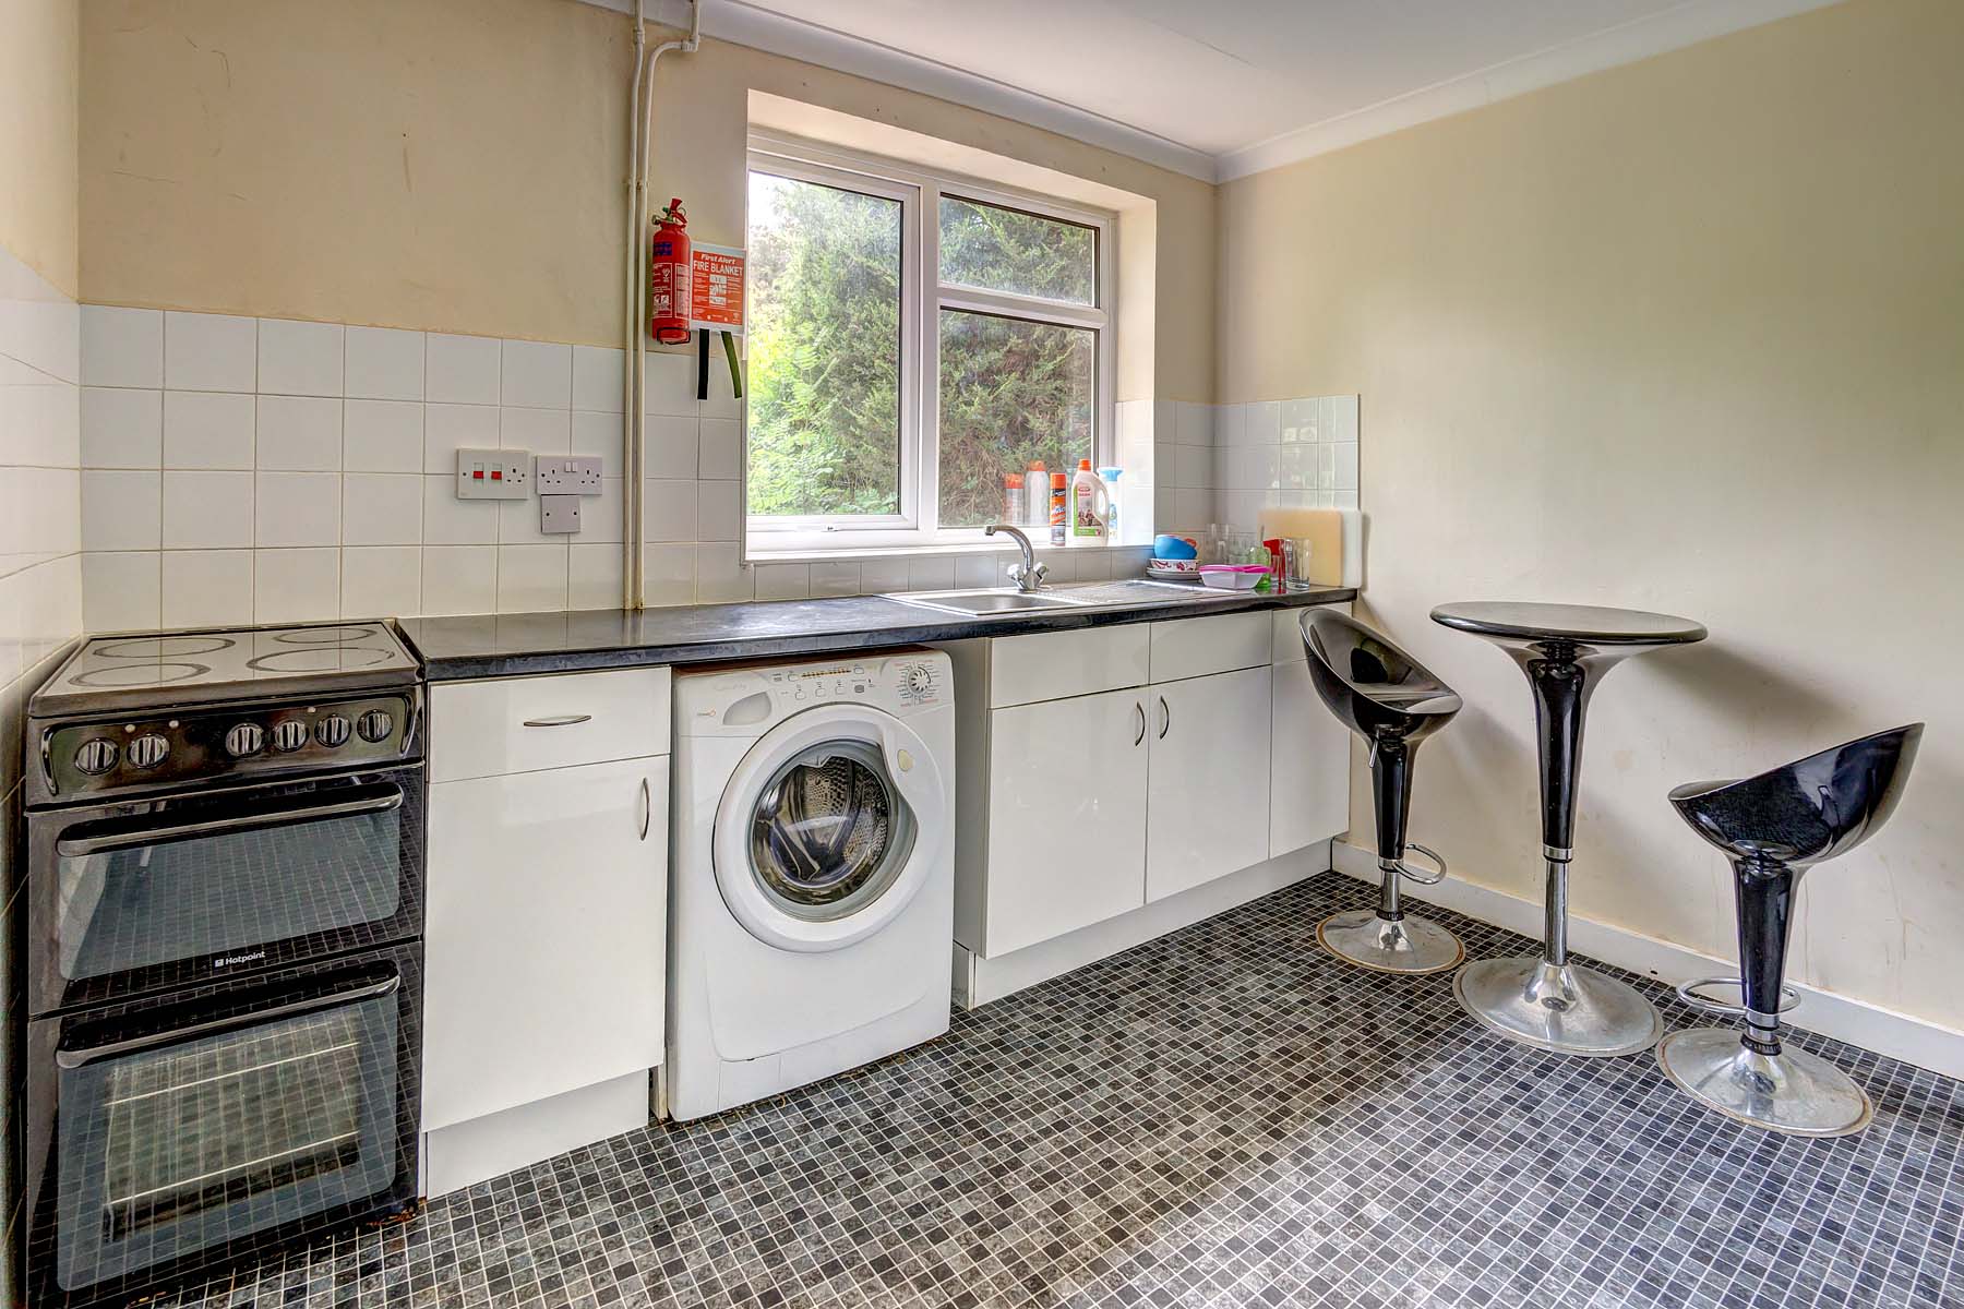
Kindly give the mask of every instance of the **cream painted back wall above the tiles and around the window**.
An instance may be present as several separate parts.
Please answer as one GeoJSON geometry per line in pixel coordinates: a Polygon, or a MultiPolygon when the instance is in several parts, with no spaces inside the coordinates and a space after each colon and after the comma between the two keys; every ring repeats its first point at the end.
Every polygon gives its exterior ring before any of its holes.
{"type": "MultiPolygon", "coordinates": [[[[619,343],[630,67],[573,0],[86,0],[81,298],[619,343]]],[[[750,88],[1155,198],[1153,391],[1212,398],[1212,186],[715,41],[658,88],[658,200],[707,241],[742,236],[750,88]]]]}

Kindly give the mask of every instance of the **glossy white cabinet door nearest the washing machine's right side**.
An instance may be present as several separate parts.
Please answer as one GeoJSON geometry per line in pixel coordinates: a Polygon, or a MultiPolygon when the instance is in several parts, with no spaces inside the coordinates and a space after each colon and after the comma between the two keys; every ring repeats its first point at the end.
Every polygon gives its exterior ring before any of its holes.
{"type": "Polygon", "coordinates": [[[990,710],[990,958],[1145,903],[1145,699],[990,710]]]}

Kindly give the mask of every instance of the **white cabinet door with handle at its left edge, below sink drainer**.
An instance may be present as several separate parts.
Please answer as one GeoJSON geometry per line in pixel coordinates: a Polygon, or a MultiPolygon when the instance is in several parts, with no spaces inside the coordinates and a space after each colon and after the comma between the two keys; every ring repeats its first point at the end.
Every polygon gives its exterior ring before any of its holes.
{"type": "Polygon", "coordinates": [[[1147,687],[1145,899],[1269,858],[1269,669],[1147,687]]]}

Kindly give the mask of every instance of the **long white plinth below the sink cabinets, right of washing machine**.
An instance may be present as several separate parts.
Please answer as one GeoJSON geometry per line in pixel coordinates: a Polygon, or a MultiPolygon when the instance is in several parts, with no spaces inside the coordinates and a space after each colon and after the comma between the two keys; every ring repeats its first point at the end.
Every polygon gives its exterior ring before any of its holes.
{"type": "Polygon", "coordinates": [[[994,960],[955,946],[955,1003],[976,1009],[1324,871],[1330,871],[1328,840],[994,960]]]}

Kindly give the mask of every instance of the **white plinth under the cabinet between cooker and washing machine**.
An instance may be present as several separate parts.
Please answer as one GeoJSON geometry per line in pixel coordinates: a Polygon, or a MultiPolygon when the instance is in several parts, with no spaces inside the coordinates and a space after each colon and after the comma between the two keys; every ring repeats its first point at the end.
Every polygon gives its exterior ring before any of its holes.
{"type": "Polygon", "coordinates": [[[462,1191],[646,1126],[648,1072],[597,1081],[534,1105],[517,1105],[422,1134],[422,1193],[430,1199],[462,1191]]]}

